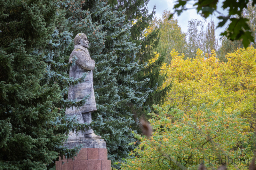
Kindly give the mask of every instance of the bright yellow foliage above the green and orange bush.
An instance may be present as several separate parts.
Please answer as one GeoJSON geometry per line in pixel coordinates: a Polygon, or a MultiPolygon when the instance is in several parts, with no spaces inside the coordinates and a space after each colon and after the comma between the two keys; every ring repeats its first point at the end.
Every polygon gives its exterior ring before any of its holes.
{"type": "Polygon", "coordinates": [[[183,59],[172,50],[172,62],[164,66],[168,70],[166,84],[173,81],[164,106],[171,105],[185,113],[202,103],[207,106],[217,100],[226,104],[227,113],[234,110],[242,117],[255,122],[256,109],[256,49],[237,49],[226,57],[227,63],[219,63],[216,54],[204,55],[197,51],[196,58],[183,59]]]}

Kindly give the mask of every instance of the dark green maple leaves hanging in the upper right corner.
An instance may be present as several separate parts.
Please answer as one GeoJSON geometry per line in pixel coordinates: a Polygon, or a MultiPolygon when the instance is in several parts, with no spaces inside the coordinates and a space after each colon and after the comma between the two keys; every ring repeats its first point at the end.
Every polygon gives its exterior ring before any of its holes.
{"type": "MultiPolygon", "coordinates": [[[[174,5],[174,13],[177,12],[178,15],[182,11],[188,10],[186,8],[186,4],[190,0],[178,0],[177,4],[174,5]]],[[[217,3],[219,0],[199,0],[194,2],[193,6],[196,7],[197,13],[199,13],[202,17],[207,18],[211,15],[214,11],[217,11],[217,3]]],[[[244,0],[224,0],[222,8],[228,9],[228,15],[220,15],[218,18],[222,21],[218,24],[217,27],[224,26],[227,22],[230,21],[228,28],[226,31],[221,33],[220,35],[226,36],[229,40],[241,40],[245,48],[250,45],[250,42],[254,43],[254,37],[252,35],[252,30],[248,25],[247,21],[249,19],[245,18],[243,14],[243,10],[248,8],[248,4],[252,3],[252,6],[256,4],[256,0],[251,1],[244,1],[244,0]]],[[[170,14],[169,19],[173,16],[170,14]]]]}

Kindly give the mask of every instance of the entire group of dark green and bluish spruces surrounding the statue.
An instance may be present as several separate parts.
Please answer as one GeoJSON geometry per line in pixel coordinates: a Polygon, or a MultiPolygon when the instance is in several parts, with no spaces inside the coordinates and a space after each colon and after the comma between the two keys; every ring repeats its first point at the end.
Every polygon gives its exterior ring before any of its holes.
{"type": "Polygon", "coordinates": [[[69,131],[89,126],[65,115],[67,107],[82,106],[87,98],[67,100],[68,86],[86,76],[73,79],[68,73],[73,38],[81,32],[96,62],[97,112],[90,126],[106,140],[112,164],[128,156],[138,116],[161,103],[169,88],[157,91],[164,81],[163,55],[146,67],[158,42],[157,30],[144,36],[154,16],[147,3],[0,0],[0,169],[54,169],[59,156],[79,152],[81,146],[62,145],[69,131]]]}

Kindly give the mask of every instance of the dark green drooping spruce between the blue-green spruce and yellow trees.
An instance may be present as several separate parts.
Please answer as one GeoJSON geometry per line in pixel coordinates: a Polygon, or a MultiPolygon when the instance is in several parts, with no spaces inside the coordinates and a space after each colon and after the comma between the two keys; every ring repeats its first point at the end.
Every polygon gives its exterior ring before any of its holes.
{"type": "Polygon", "coordinates": [[[171,88],[171,85],[163,87],[165,74],[161,74],[161,66],[165,61],[166,52],[157,50],[160,40],[160,29],[156,28],[150,33],[147,32],[150,24],[155,16],[155,6],[152,12],[148,11],[149,0],[109,0],[108,3],[115,10],[125,10],[125,23],[130,26],[131,36],[130,40],[136,43],[137,47],[140,47],[139,52],[136,55],[136,60],[139,64],[147,63],[147,67],[142,68],[137,74],[134,75],[135,80],[143,81],[148,79],[148,83],[141,86],[141,91],[148,93],[146,102],[143,107],[139,109],[129,105],[130,112],[134,114],[134,118],[145,116],[152,109],[152,104],[162,104],[167,91],[171,88]],[[152,59],[156,57],[155,52],[159,52],[160,55],[154,63],[150,63],[152,59]]]}

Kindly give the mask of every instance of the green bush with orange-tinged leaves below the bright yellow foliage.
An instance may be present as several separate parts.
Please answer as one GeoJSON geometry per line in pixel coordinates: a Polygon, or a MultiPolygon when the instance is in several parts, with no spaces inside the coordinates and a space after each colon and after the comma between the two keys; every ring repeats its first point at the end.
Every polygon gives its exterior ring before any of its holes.
{"type": "Polygon", "coordinates": [[[228,114],[220,100],[212,106],[193,107],[187,113],[180,109],[153,106],[154,132],[150,139],[135,134],[140,144],[131,152],[125,170],[197,170],[200,164],[209,169],[221,164],[229,170],[247,170],[252,159],[251,133],[239,112],[228,114]],[[236,164],[232,164],[234,162],[236,164]],[[245,161],[245,162],[244,162],[245,161]]]}

